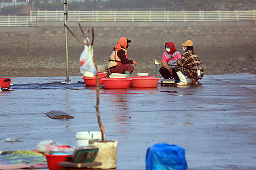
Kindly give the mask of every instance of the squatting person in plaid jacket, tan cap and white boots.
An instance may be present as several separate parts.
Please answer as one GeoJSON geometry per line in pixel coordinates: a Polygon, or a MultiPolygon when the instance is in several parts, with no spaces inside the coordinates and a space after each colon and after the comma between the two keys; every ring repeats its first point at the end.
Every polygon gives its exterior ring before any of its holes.
{"type": "Polygon", "coordinates": [[[175,71],[180,79],[180,83],[177,85],[187,85],[187,80],[185,76],[189,78],[203,78],[204,69],[201,62],[193,49],[193,42],[187,40],[182,44],[184,53],[181,59],[178,61],[175,71]],[[185,76],[184,76],[185,75],[185,76]]]}

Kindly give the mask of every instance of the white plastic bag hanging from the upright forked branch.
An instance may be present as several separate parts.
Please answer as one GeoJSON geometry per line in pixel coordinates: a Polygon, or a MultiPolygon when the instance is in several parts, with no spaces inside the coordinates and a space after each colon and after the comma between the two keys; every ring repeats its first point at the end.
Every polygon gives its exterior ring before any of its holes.
{"type": "MultiPolygon", "coordinates": [[[[89,42],[89,38],[87,38],[89,42]]],[[[87,42],[84,39],[84,42],[87,42]]],[[[93,62],[93,46],[84,45],[84,50],[80,55],[80,72],[86,77],[94,77],[97,74],[97,70],[95,68],[93,62]]]]}

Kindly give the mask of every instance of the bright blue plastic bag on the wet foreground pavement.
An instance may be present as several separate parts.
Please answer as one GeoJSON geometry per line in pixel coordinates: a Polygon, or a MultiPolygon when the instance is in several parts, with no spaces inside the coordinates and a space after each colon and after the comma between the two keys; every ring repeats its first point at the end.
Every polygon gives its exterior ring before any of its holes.
{"type": "Polygon", "coordinates": [[[158,143],[147,150],[147,170],[186,170],[187,168],[185,150],[178,145],[158,143]]]}

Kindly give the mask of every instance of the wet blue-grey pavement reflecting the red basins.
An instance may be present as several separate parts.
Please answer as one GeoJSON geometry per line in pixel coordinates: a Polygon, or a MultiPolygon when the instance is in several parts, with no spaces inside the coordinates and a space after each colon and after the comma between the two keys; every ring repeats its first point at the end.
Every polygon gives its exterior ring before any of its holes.
{"type": "MultiPolygon", "coordinates": [[[[32,150],[39,141],[77,146],[76,133],[99,131],[96,88],[81,77],[13,78],[0,92],[0,150],[32,150]],[[62,83],[60,83],[62,82],[62,83]],[[59,110],[74,119],[50,119],[59,110]],[[5,142],[15,137],[22,142],[5,142]]],[[[189,170],[256,169],[256,75],[205,75],[202,86],[100,88],[106,140],[118,140],[118,170],[145,170],[148,147],[185,149],[189,170]]]]}

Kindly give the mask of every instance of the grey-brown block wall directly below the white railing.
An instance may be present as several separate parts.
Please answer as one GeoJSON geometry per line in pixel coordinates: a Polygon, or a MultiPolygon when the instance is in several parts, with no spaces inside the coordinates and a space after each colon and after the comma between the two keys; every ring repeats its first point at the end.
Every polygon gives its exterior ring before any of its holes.
{"type": "MultiPolygon", "coordinates": [[[[192,39],[194,47],[240,47],[256,43],[256,22],[170,22],[170,23],[81,23],[84,30],[94,27],[95,46],[114,46],[126,36],[133,45],[154,47],[166,41],[176,46],[192,39]]],[[[72,31],[82,39],[78,23],[68,22],[72,31]]],[[[64,46],[64,27],[60,22],[39,22],[37,27],[0,27],[0,48],[52,48],[64,46]]],[[[79,44],[68,34],[69,46],[79,44]]]]}

